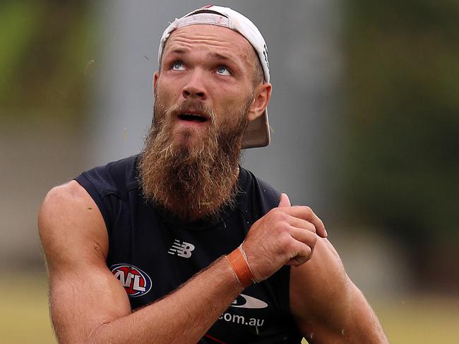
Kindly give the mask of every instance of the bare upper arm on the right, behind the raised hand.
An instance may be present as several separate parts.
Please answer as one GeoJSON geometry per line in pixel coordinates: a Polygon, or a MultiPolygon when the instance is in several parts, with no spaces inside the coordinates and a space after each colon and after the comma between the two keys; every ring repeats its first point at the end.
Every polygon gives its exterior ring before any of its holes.
{"type": "Polygon", "coordinates": [[[309,343],[388,343],[327,239],[318,239],[311,260],[292,267],[290,304],[309,343]]]}

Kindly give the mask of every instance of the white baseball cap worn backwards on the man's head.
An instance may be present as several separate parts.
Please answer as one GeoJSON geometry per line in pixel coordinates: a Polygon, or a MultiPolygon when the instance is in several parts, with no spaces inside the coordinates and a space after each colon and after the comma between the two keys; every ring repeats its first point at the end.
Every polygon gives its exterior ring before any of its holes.
{"type": "MultiPolygon", "coordinates": [[[[269,83],[269,63],[268,63],[268,48],[266,42],[261,35],[260,30],[249,18],[246,18],[241,13],[222,6],[204,6],[192,11],[181,18],[176,18],[166,30],[162,33],[160,49],[157,54],[158,63],[161,63],[162,50],[165,47],[167,38],[172,31],[178,28],[183,28],[193,24],[209,24],[218,25],[232,29],[243,35],[246,40],[254,47],[258,59],[260,59],[263,68],[264,79],[269,83]]],[[[270,142],[270,131],[268,122],[268,110],[254,121],[249,122],[249,126],[242,138],[242,148],[254,148],[268,146],[270,142]]]]}

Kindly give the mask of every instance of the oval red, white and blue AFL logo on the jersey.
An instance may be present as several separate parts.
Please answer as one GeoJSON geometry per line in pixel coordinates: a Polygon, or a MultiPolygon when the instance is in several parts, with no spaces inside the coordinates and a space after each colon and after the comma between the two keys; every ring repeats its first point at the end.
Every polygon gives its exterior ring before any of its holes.
{"type": "Polygon", "coordinates": [[[110,269],[129,297],[139,297],[150,291],[151,278],[140,268],[129,264],[116,264],[110,269]]]}

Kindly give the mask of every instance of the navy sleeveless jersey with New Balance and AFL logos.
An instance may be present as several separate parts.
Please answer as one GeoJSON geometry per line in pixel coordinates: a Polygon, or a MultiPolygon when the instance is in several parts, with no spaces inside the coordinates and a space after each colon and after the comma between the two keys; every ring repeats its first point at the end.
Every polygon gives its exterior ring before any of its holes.
{"type": "MultiPolygon", "coordinates": [[[[133,155],[76,178],[102,213],[109,235],[107,266],[124,285],[133,310],[164,297],[237,248],[251,225],[278,206],[280,196],[241,167],[235,207],[223,209],[219,220],[181,223],[145,201],[137,162],[133,155]]],[[[246,287],[199,343],[300,343],[289,285],[285,266],[246,287]]]]}

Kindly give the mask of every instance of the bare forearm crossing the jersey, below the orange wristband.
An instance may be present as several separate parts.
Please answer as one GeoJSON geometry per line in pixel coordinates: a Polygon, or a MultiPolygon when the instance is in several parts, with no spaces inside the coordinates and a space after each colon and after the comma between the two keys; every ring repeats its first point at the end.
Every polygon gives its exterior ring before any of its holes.
{"type": "Polygon", "coordinates": [[[93,331],[91,343],[197,343],[242,287],[218,259],[179,290],[93,331]]]}

